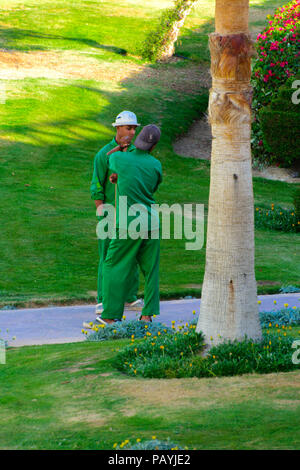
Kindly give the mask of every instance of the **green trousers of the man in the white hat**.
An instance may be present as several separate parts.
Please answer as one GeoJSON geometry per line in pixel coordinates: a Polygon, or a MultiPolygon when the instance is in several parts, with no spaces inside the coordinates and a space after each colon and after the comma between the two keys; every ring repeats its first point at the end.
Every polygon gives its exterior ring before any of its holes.
{"type": "MultiPolygon", "coordinates": [[[[98,303],[103,300],[103,265],[107,255],[107,250],[111,242],[110,238],[104,240],[98,239],[99,251],[99,265],[98,265],[98,286],[97,286],[97,301],[98,303]]],[[[128,279],[128,290],[126,294],[126,302],[134,302],[137,300],[137,292],[139,288],[139,270],[136,263],[135,268],[132,269],[130,279],[128,279]]]]}

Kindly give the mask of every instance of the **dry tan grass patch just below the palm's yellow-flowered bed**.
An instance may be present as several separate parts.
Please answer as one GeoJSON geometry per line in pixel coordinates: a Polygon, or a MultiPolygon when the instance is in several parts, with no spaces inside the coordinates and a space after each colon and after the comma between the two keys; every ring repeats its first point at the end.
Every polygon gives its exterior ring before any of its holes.
{"type": "Polygon", "coordinates": [[[278,400],[278,394],[300,392],[299,372],[244,375],[222,378],[123,380],[122,386],[111,381],[113,390],[130,401],[138,400],[148,406],[210,407],[231,401],[278,400]]]}

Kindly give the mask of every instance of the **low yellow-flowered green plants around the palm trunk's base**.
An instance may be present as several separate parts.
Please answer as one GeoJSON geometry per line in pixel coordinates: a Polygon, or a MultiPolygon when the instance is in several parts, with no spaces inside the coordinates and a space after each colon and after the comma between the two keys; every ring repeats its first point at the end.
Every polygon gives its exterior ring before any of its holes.
{"type": "Polygon", "coordinates": [[[114,366],[132,376],[183,378],[233,376],[246,373],[283,372],[300,368],[292,362],[293,338],[264,334],[260,343],[251,339],[227,341],[210,349],[205,357],[202,333],[190,325],[184,332],[147,338],[129,345],[114,358],[114,366]]]}

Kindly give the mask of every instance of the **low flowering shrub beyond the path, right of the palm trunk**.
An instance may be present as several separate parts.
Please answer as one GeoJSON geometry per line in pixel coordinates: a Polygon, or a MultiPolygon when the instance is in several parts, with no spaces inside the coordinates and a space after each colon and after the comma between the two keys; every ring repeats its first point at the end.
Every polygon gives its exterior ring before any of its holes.
{"type": "Polygon", "coordinates": [[[254,220],[256,228],[267,228],[270,230],[281,230],[282,232],[296,232],[300,226],[300,217],[297,218],[295,211],[274,207],[270,209],[255,207],[254,220]]]}

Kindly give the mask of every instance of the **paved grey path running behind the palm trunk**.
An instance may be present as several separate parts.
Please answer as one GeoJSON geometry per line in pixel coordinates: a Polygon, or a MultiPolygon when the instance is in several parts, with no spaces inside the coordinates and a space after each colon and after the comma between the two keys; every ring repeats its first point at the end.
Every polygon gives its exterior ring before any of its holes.
{"type": "MultiPolygon", "coordinates": [[[[260,311],[279,310],[285,303],[290,307],[300,307],[300,293],[264,295],[258,299],[261,301],[260,311]]],[[[161,315],[154,321],[167,326],[172,320],[176,323],[191,321],[198,317],[200,302],[200,299],[162,301],[161,315]],[[194,310],[196,315],[193,315],[194,310]]],[[[94,310],[94,305],[0,310],[0,337],[11,346],[84,341],[82,322],[94,321],[94,310]],[[14,336],[16,339],[12,340],[14,336]]],[[[125,312],[125,315],[128,320],[136,318],[136,312],[125,312]]]]}

